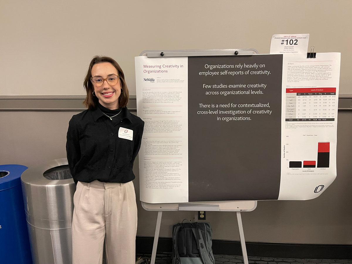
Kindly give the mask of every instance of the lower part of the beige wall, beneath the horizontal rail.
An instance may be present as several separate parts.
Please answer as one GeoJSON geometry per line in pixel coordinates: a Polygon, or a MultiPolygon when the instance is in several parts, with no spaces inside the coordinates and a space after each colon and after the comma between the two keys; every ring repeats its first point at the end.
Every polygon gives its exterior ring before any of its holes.
{"type": "MultiPolygon", "coordinates": [[[[68,121],[73,112],[0,112],[0,164],[34,166],[66,155],[68,121]]],[[[337,178],[309,201],[258,201],[242,213],[247,241],[352,244],[352,113],[338,114],[337,178]]],[[[134,166],[139,200],[138,162],[134,166]]],[[[138,204],[138,235],[153,236],[157,212],[138,204]]],[[[193,212],[163,212],[160,236],[171,237],[171,225],[193,212]]],[[[207,212],[214,239],[239,240],[235,212],[207,212]]]]}

